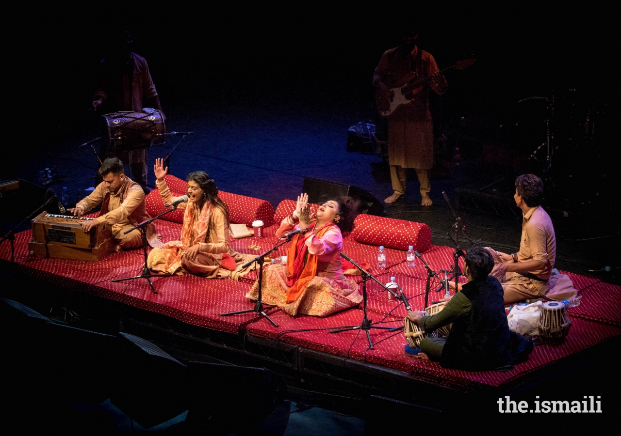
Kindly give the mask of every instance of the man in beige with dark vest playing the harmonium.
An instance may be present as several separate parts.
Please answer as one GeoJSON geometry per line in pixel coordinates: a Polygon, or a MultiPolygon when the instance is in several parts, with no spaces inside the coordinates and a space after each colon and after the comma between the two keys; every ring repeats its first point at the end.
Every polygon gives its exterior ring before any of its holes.
{"type": "MultiPolygon", "coordinates": [[[[112,226],[117,252],[142,247],[142,233],[139,229],[124,234],[127,229],[151,218],[145,207],[145,193],[142,188],[123,174],[123,162],[117,158],[104,160],[97,173],[103,182],[97,185],[93,194],[69,211],[75,216],[82,216],[102,203],[99,216],[82,223],[84,233],[88,233],[93,227],[107,224],[112,226]]],[[[147,226],[147,241],[152,247],[161,247],[153,224],[147,226]]]]}

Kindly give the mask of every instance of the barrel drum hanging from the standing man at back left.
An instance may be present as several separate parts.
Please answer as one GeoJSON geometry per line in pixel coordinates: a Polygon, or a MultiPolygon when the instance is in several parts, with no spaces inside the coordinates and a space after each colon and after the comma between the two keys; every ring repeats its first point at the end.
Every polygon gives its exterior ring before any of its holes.
{"type": "Polygon", "coordinates": [[[162,145],[166,125],[159,110],[145,108],[142,112],[115,112],[104,115],[108,151],[132,151],[162,145]]]}

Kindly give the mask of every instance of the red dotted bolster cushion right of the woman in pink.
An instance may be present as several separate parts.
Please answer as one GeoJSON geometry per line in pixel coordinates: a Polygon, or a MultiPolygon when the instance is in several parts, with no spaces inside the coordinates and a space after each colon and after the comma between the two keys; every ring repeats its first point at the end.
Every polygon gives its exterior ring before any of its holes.
{"type": "Polygon", "coordinates": [[[431,229],[424,223],[366,214],[356,216],[351,237],[361,244],[397,250],[407,250],[411,245],[421,253],[431,245],[431,229]]]}

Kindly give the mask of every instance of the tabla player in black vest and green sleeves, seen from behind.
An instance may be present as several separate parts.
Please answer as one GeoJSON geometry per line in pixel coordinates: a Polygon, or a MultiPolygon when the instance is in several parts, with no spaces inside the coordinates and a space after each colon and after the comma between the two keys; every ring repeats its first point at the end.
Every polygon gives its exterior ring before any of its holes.
{"type": "Polygon", "coordinates": [[[509,330],[502,286],[489,275],[494,258],[487,249],[466,251],[464,273],[468,278],[445,308],[433,316],[409,311],[407,319],[430,333],[453,324],[448,337],[425,337],[420,350],[406,345],[406,352],[440,362],[445,368],[470,371],[493,370],[523,362],[533,350],[530,339],[509,330]]]}

